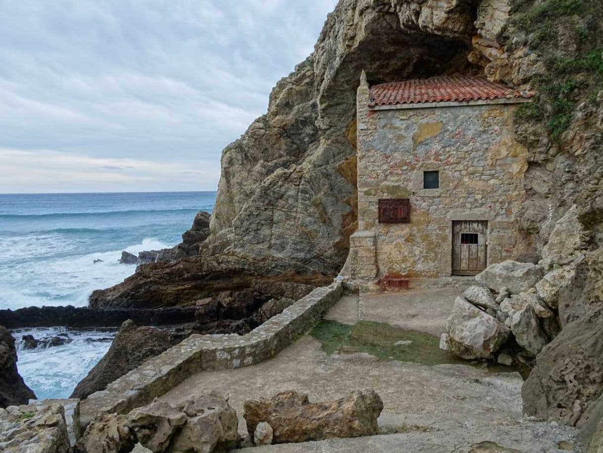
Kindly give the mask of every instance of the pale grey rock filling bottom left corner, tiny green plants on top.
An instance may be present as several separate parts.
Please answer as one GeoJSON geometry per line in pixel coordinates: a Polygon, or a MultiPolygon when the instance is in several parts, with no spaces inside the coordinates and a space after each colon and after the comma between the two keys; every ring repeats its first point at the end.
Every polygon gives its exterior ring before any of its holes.
{"type": "Polygon", "coordinates": [[[63,406],[11,406],[0,414],[0,451],[71,453],[63,406]]]}

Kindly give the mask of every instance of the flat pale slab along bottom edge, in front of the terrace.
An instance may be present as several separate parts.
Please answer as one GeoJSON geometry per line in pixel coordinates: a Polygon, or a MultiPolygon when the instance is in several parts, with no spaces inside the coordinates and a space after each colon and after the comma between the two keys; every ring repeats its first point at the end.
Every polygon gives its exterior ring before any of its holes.
{"type": "Polygon", "coordinates": [[[410,431],[355,439],[265,445],[238,453],[569,453],[581,452],[576,431],[524,420],[469,423],[449,429],[410,431]]]}

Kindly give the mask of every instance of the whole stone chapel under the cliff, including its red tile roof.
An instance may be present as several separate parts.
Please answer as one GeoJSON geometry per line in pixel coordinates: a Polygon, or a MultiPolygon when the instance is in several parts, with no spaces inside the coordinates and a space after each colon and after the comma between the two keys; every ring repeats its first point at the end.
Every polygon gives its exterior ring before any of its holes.
{"type": "Polygon", "coordinates": [[[358,231],[344,273],[382,287],[441,285],[528,249],[515,219],[527,150],[512,115],[530,97],[472,76],[368,86],[363,72],[358,231]]]}

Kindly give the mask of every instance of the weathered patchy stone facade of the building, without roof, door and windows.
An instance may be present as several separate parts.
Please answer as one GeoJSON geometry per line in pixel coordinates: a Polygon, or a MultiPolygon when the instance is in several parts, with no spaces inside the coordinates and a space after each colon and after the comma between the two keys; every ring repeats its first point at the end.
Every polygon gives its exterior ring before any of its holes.
{"type": "MultiPolygon", "coordinates": [[[[485,265],[532,251],[516,212],[525,198],[528,152],[512,118],[525,99],[371,108],[358,88],[358,231],[344,274],[352,280],[453,275],[454,221],[487,222],[485,265]],[[423,172],[439,188],[423,188],[423,172]],[[409,199],[409,223],[380,223],[379,199],[409,199]]],[[[483,225],[486,225],[483,223],[483,225]]]]}

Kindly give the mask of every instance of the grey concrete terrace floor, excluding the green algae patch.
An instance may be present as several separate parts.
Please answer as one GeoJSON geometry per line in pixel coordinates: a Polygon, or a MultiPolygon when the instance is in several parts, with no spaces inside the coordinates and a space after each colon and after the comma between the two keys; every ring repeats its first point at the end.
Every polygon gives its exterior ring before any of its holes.
{"type": "MultiPolygon", "coordinates": [[[[378,321],[439,335],[456,294],[455,289],[435,289],[361,298],[349,295],[329,311],[327,319],[345,324],[378,321]]],[[[250,398],[297,390],[319,401],[372,387],[384,400],[379,417],[384,435],[246,449],[248,453],[578,452],[572,428],[522,419],[522,382],[519,373],[467,364],[428,366],[383,361],[368,353],[327,355],[320,342],[306,334],[267,362],[199,373],[160,399],[177,401],[204,390],[222,391],[239,414],[242,435],[247,434],[242,406],[250,398]]]]}

